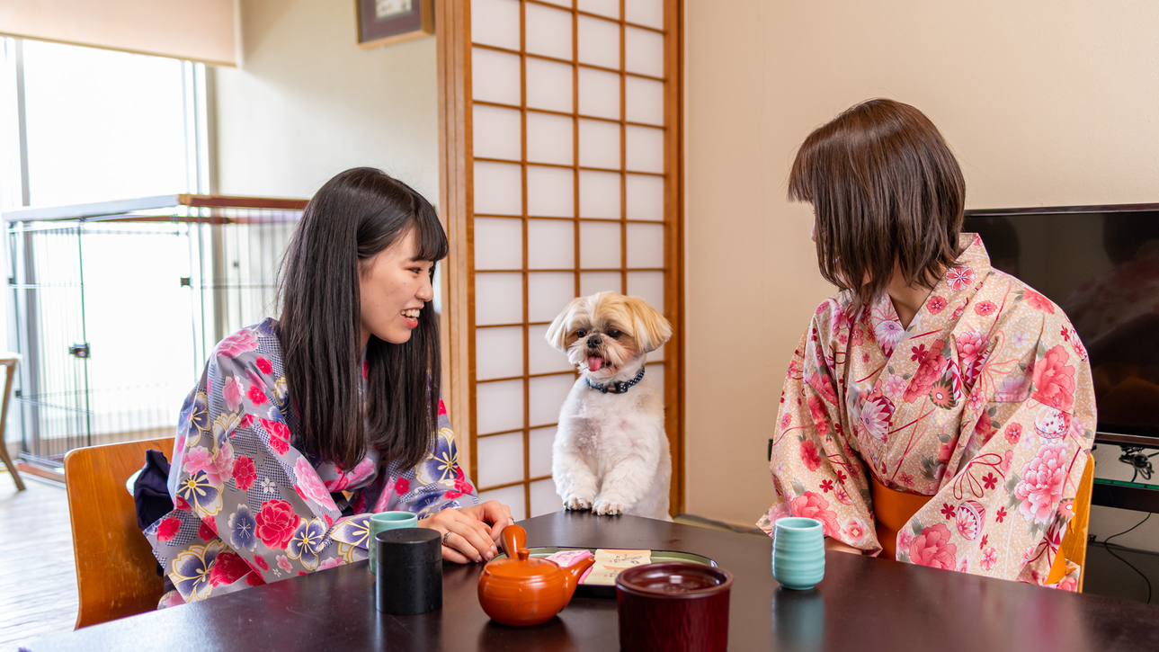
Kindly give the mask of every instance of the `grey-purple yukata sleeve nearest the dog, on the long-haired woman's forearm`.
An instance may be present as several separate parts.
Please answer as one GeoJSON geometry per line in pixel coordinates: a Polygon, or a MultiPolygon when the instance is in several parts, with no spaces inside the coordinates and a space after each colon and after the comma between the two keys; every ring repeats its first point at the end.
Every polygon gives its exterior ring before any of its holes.
{"type": "Polygon", "coordinates": [[[459,448],[443,399],[438,401],[438,432],[427,458],[415,466],[387,466],[386,485],[374,512],[414,512],[425,519],[443,509],[479,505],[479,493],[459,466],[459,448]]]}

